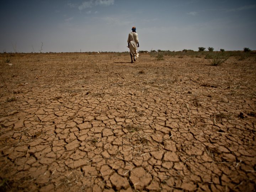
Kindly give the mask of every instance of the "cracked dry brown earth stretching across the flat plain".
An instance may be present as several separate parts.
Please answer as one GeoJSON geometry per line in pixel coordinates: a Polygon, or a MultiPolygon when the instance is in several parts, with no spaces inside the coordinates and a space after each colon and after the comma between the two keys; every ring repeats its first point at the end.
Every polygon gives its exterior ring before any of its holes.
{"type": "Polygon", "coordinates": [[[0,65],[1,190],[255,190],[255,58],[129,59],[20,54],[0,65]]]}

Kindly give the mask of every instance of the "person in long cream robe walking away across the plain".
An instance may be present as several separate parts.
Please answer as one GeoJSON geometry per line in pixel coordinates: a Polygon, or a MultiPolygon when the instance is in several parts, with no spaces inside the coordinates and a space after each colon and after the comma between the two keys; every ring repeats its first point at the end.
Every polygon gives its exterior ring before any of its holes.
{"type": "Polygon", "coordinates": [[[136,59],[139,57],[139,53],[137,52],[137,44],[139,47],[139,38],[138,34],[136,33],[136,27],[132,28],[132,32],[128,35],[128,48],[130,48],[130,56],[133,63],[133,60],[136,61],[136,59]]]}

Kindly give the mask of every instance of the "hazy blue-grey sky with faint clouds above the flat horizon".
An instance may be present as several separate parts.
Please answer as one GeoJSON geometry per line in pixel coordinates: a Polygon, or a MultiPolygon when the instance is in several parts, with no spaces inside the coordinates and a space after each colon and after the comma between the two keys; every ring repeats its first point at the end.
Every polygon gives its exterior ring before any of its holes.
{"type": "Polygon", "coordinates": [[[256,50],[255,0],[3,0],[0,16],[0,52],[123,52],[132,26],[139,50],[256,50]]]}

